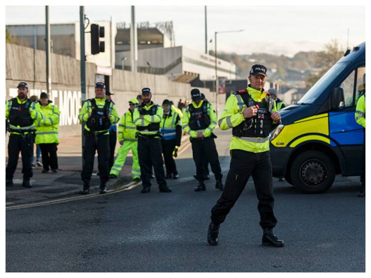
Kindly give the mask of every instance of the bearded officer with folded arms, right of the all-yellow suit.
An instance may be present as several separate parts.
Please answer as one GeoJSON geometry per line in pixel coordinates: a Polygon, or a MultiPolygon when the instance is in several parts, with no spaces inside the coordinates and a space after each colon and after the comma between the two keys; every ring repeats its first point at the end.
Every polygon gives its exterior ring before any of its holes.
{"type": "Polygon", "coordinates": [[[165,180],[164,161],[161,155],[160,122],[163,116],[161,106],[151,101],[150,88],[142,89],[143,103],[133,114],[133,122],[137,126],[138,156],[143,183],[142,193],[150,192],[151,172],[153,165],[160,192],[171,192],[165,180]]]}

